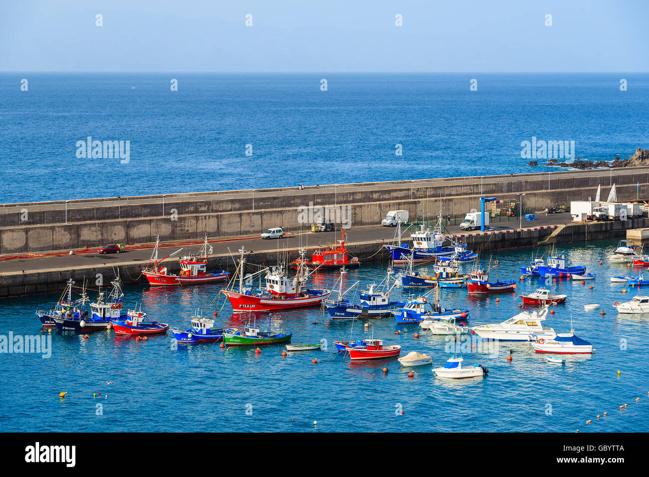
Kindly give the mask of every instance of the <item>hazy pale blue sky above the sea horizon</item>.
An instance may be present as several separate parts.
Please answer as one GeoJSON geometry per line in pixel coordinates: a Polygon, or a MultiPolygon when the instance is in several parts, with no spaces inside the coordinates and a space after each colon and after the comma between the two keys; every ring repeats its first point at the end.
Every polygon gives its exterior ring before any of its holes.
{"type": "Polygon", "coordinates": [[[647,0],[0,0],[0,70],[649,71],[648,19],[647,0]]]}

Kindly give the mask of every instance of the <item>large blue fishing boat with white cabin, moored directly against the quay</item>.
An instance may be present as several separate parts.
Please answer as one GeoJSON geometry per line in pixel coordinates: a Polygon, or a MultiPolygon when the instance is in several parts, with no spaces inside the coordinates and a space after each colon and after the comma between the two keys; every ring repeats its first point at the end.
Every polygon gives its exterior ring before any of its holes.
{"type": "MultiPolygon", "coordinates": [[[[444,235],[444,222],[441,210],[439,211],[437,224],[434,228],[431,229],[422,224],[419,230],[416,230],[410,237],[412,238],[412,247],[408,243],[384,245],[390,252],[395,265],[408,263],[408,260],[412,260],[413,263],[435,262],[437,257],[456,254],[456,243],[444,235]],[[445,245],[447,242],[450,242],[450,245],[445,245]]],[[[400,225],[398,225],[395,241],[398,243],[400,239],[401,229],[400,225]]],[[[464,252],[472,254],[468,250],[464,252]]]]}

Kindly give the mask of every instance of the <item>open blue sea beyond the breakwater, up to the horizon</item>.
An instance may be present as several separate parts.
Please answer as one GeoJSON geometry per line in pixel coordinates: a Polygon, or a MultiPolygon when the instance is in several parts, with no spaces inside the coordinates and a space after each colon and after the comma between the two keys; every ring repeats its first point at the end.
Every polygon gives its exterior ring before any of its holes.
{"type": "Polygon", "coordinates": [[[545,171],[522,141],[626,158],[647,110],[646,73],[0,73],[0,202],[545,171]],[[88,136],[128,164],[77,158],[88,136]]]}

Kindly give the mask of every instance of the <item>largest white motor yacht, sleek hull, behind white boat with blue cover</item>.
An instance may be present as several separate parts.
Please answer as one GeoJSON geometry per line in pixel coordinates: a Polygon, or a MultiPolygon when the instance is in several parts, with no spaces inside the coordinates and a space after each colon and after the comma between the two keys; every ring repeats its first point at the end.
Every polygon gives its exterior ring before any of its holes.
{"type": "Polygon", "coordinates": [[[557,334],[549,326],[543,326],[548,314],[548,307],[542,310],[525,310],[502,323],[483,324],[472,328],[471,333],[477,333],[484,339],[500,341],[530,341],[532,335],[552,339],[557,334]]]}

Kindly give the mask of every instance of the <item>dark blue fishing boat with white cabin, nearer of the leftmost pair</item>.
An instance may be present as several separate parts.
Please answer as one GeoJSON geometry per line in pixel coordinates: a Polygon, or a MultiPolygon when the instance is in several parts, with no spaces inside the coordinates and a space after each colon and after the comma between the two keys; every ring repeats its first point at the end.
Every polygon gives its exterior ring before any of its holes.
{"type": "Polygon", "coordinates": [[[97,300],[90,304],[90,313],[87,315],[55,316],[56,328],[62,332],[90,332],[105,330],[110,326],[112,320],[126,320],[126,313],[121,313],[124,302],[121,280],[118,277],[110,284],[112,284],[112,290],[108,293],[108,296],[103,291],[99,291],[97,300]]]}

